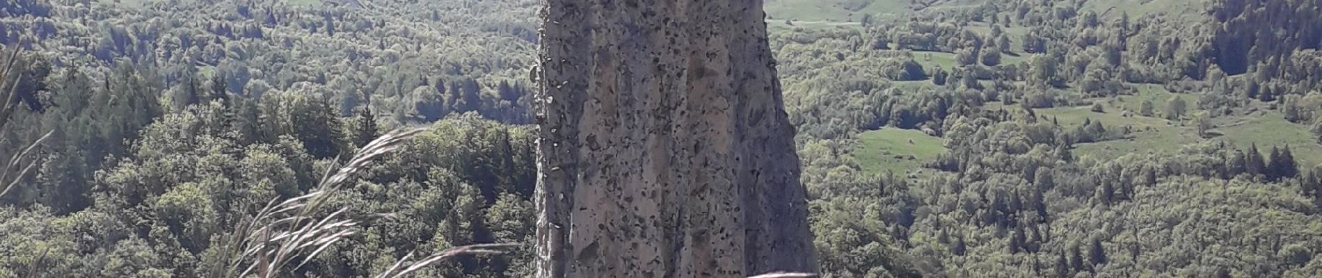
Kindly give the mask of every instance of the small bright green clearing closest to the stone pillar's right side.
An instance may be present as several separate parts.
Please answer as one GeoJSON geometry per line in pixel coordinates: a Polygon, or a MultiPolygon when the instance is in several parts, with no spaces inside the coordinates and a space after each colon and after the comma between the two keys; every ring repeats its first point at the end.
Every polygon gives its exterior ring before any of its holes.
{"type": "Polygon", "coordinates": [[[886,128],[858,134],[861,142],[854,150],[854,159],[863,173],[904,174],[921,167],[937,154],[945,153],[940,137],[932,137],[919,130],[886,128]],[[912,144],[911,144],[912,142],[912,144]],[[914,159],[910,159],[914,157],[914,159]]]}

